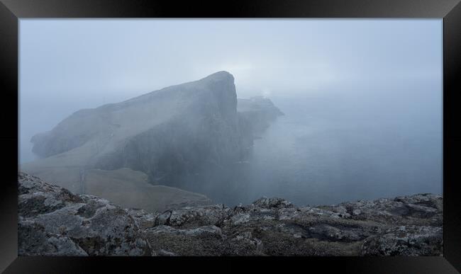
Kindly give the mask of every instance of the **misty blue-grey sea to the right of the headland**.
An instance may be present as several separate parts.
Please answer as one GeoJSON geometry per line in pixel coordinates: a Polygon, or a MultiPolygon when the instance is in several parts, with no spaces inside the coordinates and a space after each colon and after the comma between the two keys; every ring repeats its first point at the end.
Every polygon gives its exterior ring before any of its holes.
{"type": "Polygon", "coordinates": [[[285,115],[255,139],[247,161],[199,190],[214,202],[245,205],[264,195],[331,205],[442,193],[440,86],[271,100],[285,115]]]}

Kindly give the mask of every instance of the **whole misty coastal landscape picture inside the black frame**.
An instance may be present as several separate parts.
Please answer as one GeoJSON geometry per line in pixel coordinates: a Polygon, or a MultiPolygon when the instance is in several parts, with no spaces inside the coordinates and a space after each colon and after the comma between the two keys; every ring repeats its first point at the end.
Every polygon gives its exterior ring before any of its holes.
{"type": "Polygon", "coordinates": [[[21,18],[18,256],[444,256],[443,23],[21,18]]]}

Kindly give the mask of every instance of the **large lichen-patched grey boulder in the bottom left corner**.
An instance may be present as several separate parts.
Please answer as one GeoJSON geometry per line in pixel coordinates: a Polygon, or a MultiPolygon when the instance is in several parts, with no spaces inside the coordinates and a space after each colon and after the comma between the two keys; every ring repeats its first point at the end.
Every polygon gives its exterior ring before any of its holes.
{"type": "Polygon", "coordinates": [[[150,256],[148,241],[127,210],[91,195],[20,173],[18,254],[150,256]]]}

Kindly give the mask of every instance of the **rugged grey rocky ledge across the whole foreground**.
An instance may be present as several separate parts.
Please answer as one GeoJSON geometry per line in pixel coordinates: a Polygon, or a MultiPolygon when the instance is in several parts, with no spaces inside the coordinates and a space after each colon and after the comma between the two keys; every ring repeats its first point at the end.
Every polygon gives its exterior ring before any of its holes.
{"type": "Polygon", "coordinates": [[[443,198],[123,209],[18,174],[19,256],[440,256],[443,198]]]}

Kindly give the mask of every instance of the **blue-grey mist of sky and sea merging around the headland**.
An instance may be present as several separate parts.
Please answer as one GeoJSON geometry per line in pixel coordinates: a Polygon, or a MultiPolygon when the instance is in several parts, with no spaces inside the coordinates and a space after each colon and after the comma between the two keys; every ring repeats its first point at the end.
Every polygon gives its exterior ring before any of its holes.
{"type": "Polygon", "coordinates": [[[214,202],[442,193],[441,19],[20,21],[19,154],[96,108],[226,70],[285,114],[248,159],[171,182],[214,202]]]}

